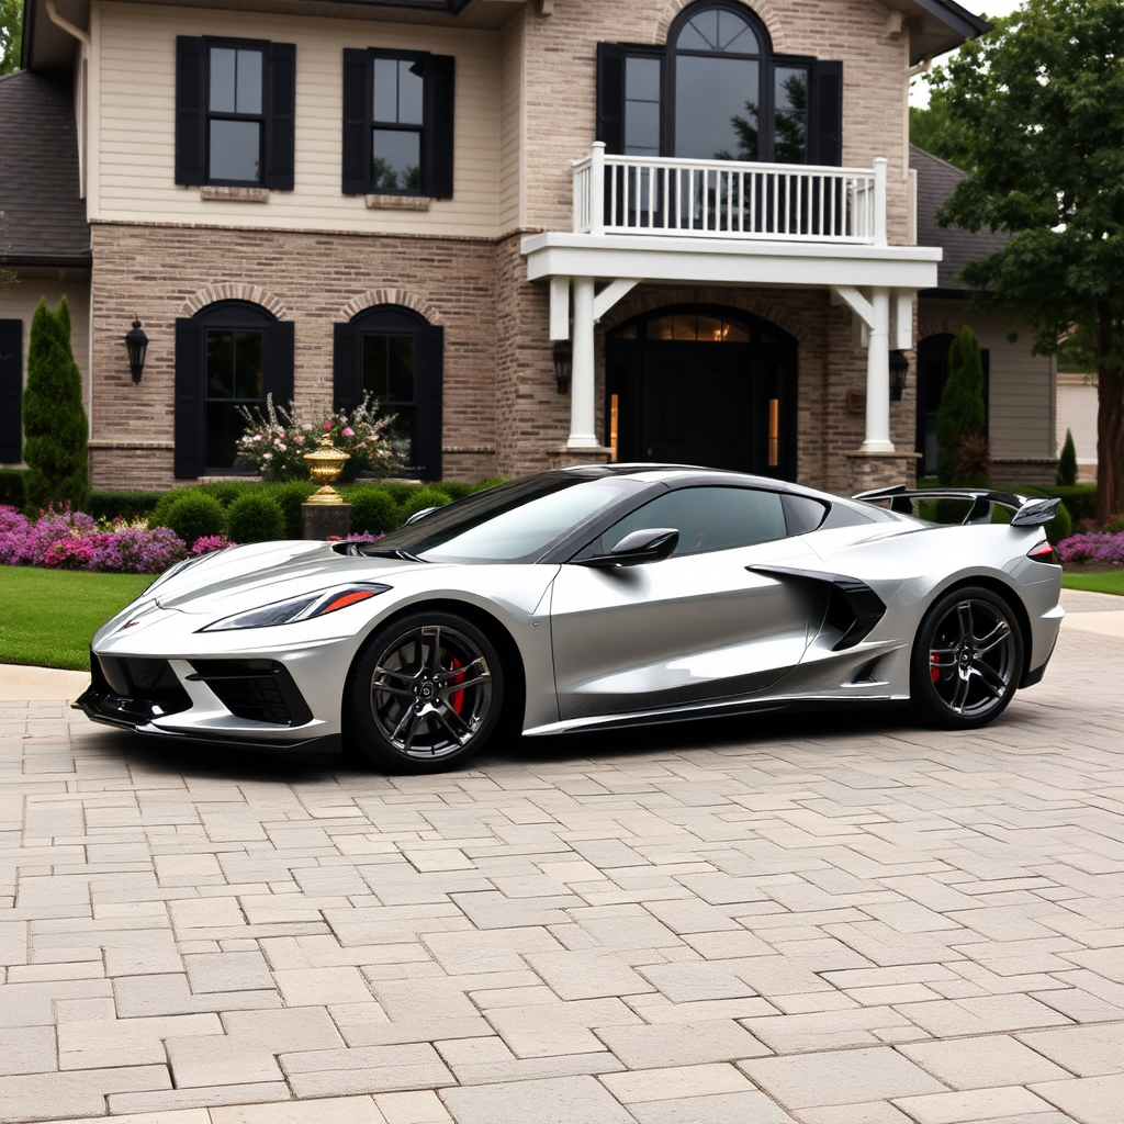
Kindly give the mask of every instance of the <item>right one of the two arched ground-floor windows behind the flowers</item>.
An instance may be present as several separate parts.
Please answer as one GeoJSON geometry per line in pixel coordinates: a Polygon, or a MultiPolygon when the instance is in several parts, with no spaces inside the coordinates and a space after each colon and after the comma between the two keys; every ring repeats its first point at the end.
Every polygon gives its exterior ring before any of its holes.
{"type": "Polygon", "coordinates": [[[374,397],[380,413],[395,415],[399,471],[424,480],[441,479],[443,351],[443,329],[398,305],[335,327],[335,408],[374,397]]]}

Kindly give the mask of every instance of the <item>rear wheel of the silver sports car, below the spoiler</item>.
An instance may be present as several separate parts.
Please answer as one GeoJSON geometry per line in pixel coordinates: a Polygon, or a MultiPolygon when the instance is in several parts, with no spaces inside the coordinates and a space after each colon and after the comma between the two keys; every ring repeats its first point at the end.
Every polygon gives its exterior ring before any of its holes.
{"type": "Polygon", "coordinates": [[[1023,635],[1010,604],[982,586],[954,589],[925,614],[909,668],[914,709],[946,729],[998,718],[1023,674],[1023,635]]]}

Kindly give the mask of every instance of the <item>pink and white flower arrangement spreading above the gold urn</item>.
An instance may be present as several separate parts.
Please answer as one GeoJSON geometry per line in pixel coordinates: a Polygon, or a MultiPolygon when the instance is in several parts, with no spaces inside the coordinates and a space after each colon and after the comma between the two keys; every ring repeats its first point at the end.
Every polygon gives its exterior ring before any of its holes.
{"type": "Polygon", "coordinates": [[[266,480],[307,480],[308,465],[302,457],[315,452],[324,438],[342,453],[347,453],[360,468],[384,475],[396,464],[391,443],[393,414],[378,416],[378,402],[370,395],[352,410],[303,417],[290,404],[273,405],[265,399],[265,414],[238,407],[246,432],[238,438],[237,460],[255,465],[266,480]]]}

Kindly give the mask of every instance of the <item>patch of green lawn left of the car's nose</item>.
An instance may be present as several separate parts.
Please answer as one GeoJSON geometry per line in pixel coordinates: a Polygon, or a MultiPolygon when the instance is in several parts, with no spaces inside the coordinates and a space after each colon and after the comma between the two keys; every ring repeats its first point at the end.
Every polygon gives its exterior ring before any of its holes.
{"type": "Polygon", "coordinates": [[[85,671],[93,634],[153,581],[148,573],[0,565],[0,663],[85,671]]]}

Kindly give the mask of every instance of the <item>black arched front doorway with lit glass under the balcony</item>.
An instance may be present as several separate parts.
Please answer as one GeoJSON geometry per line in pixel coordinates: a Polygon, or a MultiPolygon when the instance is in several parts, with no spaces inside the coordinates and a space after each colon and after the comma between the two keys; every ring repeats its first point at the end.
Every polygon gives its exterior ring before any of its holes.
{"type": "Polygon", "coordinates": [[[671,306],[609,332],[605,360],[616,460],[795,478],[797,344],[774,324],[671,306]]]}

